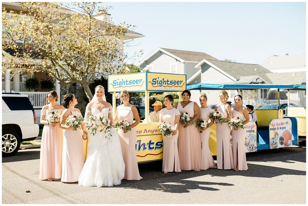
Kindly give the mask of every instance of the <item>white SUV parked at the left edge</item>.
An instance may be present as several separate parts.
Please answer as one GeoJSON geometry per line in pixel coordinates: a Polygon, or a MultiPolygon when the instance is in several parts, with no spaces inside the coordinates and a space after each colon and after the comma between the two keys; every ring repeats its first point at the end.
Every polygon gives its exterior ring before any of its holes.
{"type": "Polygon", "coordinates": [[[38,134],[39,125],[27,95],[2,93],[2,157],[16,154],[21,142],[38,134]]]}

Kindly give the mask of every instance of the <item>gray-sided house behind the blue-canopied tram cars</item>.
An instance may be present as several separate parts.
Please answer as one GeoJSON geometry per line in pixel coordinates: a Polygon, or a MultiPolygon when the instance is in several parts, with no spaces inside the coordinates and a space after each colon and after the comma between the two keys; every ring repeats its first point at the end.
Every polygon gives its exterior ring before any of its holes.
{"type": "MultiPolygon", "coordinates": [[[[196,66],[199,70],[187,80],[187,84],[306,84],[306,72],[273,73],[259,64],[243,64],[220,60],[201,60],[196,66]]],[[[208,104],[218,103],[218,90],[199,91],[192,95],[192,100],[198,102],[201,92],[208,95],[208,104]]],[[[294,91],[292,91],[294,92],[294,91]]],[[[234,102],[233,97],[239,93],[229,90],[229,101],[234,102]]],[[[249,91],[244,91],[244,97],[249,91]],[[246,93],[246,94],[245,94],[246,93]]],[[[290,96],[291,97],[291,96],[290,96]]],[[[293,95],[294,97],[294,95],[293,95]]],[[[293,103],[298,106],[306,105],[306,98],[299,94],[293,103]],[[300,101],[300,99],[302,99],[300,101]]],[[[287,102],[287,91],[280,92],[281,103],[287,102]]],[[[257,90],[254,98],[243,100],[243,104],[251,104],[255,107],[277,103],[277,90],[257,90]]]]}

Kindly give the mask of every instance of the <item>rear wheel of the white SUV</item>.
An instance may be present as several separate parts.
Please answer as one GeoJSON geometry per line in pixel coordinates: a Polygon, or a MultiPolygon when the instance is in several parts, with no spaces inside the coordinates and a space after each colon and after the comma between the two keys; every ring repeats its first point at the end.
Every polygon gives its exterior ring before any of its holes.
{"type": "Polygon", "coordinates": [[[18,152],[20,148],[20,138],[12,130],[2,132],[2,157],[9,157],[18,152]]]}

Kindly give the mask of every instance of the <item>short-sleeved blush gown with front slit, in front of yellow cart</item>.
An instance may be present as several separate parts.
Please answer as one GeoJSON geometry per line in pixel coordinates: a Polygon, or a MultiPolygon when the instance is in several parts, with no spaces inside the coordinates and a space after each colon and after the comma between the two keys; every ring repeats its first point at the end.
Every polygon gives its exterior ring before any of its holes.
{"type": "MultiPolygon", "coordinates": [[[[167,108],[161,109],[163,122],[169,122],[171,129],[175,128],[175,116],[180,115],[180,111],[176,108],[168,110],[167,108]]],[[[176,135],[172,135],[170,138],[163,135],[164,150],[163,150],[163,171],[164,172],[180,172],[180,159],[179,151],[177,148],[177,139],[179,136],[179,130],[176,135]]]]}

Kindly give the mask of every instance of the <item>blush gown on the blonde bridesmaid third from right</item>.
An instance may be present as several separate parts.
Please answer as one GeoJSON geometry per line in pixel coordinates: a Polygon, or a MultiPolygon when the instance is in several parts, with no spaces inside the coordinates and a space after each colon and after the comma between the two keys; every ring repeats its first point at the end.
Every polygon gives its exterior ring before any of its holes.
{"type": "MultiPolygon", "coordinates": [[[[201,115],[200,119],[205,119],[207,122],[209,121],[209,113],[212,112],[212,109],[209,107],[201,108],[201,115]]],[[[211,154],[211,150],[209,148],[209,137],[210,137],[210,129],[203,130],[200,133],[200,139],[202,144],[201,150],[201,169],[209,169],[209,168],[216,168],[214,159],[211,154]]]]}

